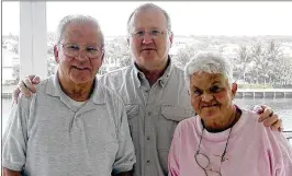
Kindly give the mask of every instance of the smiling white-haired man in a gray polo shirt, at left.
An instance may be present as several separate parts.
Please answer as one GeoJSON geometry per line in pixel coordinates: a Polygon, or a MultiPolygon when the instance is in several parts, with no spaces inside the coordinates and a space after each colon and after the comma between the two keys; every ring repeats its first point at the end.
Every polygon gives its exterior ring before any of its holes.
{"type": "Polygon", "coordinates": [[[131,175],[135,153],[125,107],[96,78],[103,44],[94,19],[63,19],[54,47],[57,73],[12,109],[2,146],[5,176],[131,175]]]}

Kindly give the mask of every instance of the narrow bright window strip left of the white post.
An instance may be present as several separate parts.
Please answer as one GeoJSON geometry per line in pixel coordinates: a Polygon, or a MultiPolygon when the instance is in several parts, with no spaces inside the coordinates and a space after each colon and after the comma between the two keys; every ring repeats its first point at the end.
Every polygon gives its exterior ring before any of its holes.
{"type": "Polygon", "coordinates": [[[2,129],[11,108],[11,92],[19,82],[20,2],[2,2],[2,129]]]}

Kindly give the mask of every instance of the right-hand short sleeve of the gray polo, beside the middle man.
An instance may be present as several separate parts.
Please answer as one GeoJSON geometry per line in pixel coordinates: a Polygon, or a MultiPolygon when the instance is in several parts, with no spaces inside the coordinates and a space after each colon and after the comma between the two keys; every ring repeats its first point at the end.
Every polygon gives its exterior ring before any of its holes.
{"type": "Polygon", "coordinates": [[[127,116],[124,105],[121,103],[121,120],[120,128],[117,130],[119,150],[115,155],[115,162],[113,164],[113,174],[128,172],[133,169],[133,165],[136,163],[134,144],[130,134],[130,128],[127,124],[127,116]]]}

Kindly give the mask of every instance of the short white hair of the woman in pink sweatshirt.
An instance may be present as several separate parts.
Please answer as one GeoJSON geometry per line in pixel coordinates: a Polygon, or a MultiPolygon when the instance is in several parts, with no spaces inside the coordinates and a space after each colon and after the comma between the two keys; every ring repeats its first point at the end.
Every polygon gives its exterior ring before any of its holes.
{"type": "Polygon", "coordinates": [[[184,68],[184,80],[188,89],[190,89],[190,79],[193,73],[200,72],[220,73],[227,79],[229,85],[233,83],[232,64],[227,58],[220,54],[200,54],[190,59],[184,68]]]}

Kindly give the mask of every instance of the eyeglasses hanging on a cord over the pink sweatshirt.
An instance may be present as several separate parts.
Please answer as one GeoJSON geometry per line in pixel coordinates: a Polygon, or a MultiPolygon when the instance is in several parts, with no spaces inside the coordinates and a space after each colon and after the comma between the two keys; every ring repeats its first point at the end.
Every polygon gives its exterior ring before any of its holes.
{"type": "Polygon", "coordinates": [[[195,160],[196,164],[204,171],[205,176],[210,176],[210,175],[212,175],[212,176],[222,176],[222,174],[221,174],[221,165],[222,165],[222,163],[225,160],[227,160],[227,159],[225,159],[225,154],[226,154],[229,137],[231,137],[231,133],[232,133],[232,128],[231,128],[231,131],[229,131],[229,136],[228,136],[227,142],[226,142],[224,152],[221,155],[220,171],[213,171],[210,167],[210,159],[205,154],[200,152],[200,146],[201,146],[201,142],[202,142],[203,132],[204,132],[204,128],[202,130],[202,134],[201,134],[201,138],[200,138],[199,148],[198,148],[196,152],[194,153],[194,160],[195,160]]]}

